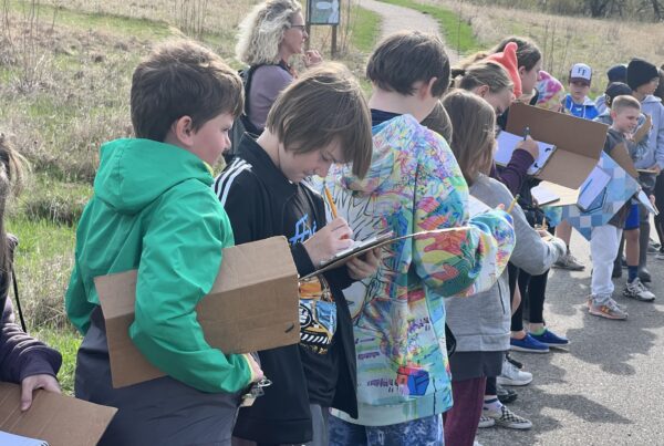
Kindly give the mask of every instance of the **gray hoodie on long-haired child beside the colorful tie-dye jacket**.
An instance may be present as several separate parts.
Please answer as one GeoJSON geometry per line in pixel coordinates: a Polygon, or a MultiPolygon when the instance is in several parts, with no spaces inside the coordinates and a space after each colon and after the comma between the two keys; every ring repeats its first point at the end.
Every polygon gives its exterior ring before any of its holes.
{"type": "MultiPolygon", "coordinates": [[[[512,195],[501,183],[480,175],[470,195],[489,207],[500,204],[507,208],[512,195]]],[[[546,272],[559,257],[566,253],[562,240],[544,241],[530,227],[521,208],[517,205],[511,212],[517,245],[510,261],[529,274],[546,272]]],[[[457,341],[458,352],[495,352],[509,349],[511,305],[507,270],[496,284],[473,299],[450,298],[445,300],[447,324],[457,341]]]]}

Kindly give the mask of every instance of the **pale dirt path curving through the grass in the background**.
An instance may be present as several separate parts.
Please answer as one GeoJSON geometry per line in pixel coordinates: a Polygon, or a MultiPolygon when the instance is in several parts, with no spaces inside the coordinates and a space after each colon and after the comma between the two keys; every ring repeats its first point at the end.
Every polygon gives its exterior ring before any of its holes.
{"type": "MultiPolygon", "coordinates": [[[[432,32],[440,35],[438,22],[430,15],[409,8],[383,3],[376,0],[360,0],[362,8],[369,9],[381,15],[381,39],[400,30],[416,30],[432,32]]],[[[446,45],[447,55],[452,63],[458,59],[455,51],[446,45]]]]}

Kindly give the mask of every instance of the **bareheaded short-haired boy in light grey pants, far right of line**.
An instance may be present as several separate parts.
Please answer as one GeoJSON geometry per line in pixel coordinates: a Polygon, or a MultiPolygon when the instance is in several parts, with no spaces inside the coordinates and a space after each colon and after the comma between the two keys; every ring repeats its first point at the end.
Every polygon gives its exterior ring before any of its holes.
{"type": "MultiPolygon", "coordinates": [[[[631,96],[618,96],[610,101],[612,124],[606,134],[604,152],[609,155],[614,151],[624,151],[627,146],[626,135],[631,135],[639,124],[641,106],[639,101],[631,96]]],[[[592,256],[591,274],[591,300],[589,301],[590,314],[606,319],[627,319],[627,313],[615,303],[612,298],[613,259],[618,253],[618,247],[622,236],[622,227],[630,210],[627,203],[608,225],[592,228],[590,239],[590,252],[592,256]]],[[[640,284],[639,278],[634,279],[627,287],[640,284]]],[[[655,297],[643,286],[634,290],[634,298],[640,300],[654,300],[655,297]],[[636,292],[637,291],[637,292],[636,292]]]]}

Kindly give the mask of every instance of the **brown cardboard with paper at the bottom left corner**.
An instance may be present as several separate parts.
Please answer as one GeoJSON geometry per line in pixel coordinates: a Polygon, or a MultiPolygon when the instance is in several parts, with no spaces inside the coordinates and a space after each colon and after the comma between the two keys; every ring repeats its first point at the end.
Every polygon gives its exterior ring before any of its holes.
{"type": "Polygon", "coordinates": [[[50,446],[96,445],[117,412],[71,396],[37,391],[21,412],[21,387],[0,383],[0,431],[42,439],[50,446]]]}

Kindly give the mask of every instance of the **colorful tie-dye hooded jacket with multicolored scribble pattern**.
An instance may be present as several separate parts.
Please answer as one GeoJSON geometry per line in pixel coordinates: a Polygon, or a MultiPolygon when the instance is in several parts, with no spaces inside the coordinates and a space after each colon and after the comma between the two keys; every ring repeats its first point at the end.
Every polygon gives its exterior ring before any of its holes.
{"type": "Polygon", "coordinates": [[[355,239],[460,227],[393,243],[375,277],[344,291],[354,320],[359,419],[377,426],[443,413],[452,406],[444,299],[488,290],[515,243],[500,210],[468,220],[468,187],[449,146],[403,115],[373,128],[364,179],[333,167],[326,186],[355,239]]]}

